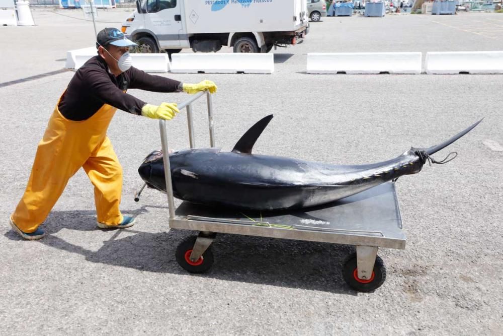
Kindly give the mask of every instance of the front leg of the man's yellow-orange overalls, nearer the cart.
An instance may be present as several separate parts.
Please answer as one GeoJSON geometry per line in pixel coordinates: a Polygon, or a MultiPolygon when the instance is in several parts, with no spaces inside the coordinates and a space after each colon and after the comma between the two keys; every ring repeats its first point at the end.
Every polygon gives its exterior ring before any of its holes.
{"type": "Polygon", "coordinates": [[[122,193],[122,167],[112,143],[105,137],[82,168],[95,187],[95,204],[98,222],[116,225],[122,223],[119,210],[122,193]]]}

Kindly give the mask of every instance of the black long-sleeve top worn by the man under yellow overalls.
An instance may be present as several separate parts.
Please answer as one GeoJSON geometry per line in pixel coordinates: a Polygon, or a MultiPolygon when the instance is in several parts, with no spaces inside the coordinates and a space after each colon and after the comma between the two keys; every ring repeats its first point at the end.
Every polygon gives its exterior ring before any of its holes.
{"type": "Polygon", "coordinates": [[[90,118],[103,104],[140,115],[141,108],[146,103],[124,91],[141,89],[153,92],[177,92],[179,85],[179,81],[145,74],[132,66],[115,77],[109,72],[105,60],[97,55],[73,75],[58,108],[65,118],[75,121],[90,118]]]}

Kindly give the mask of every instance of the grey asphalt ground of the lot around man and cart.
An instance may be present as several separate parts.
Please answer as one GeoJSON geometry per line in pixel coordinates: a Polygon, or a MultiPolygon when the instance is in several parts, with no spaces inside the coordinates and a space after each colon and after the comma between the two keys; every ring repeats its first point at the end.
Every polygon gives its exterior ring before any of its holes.
{"type": "MultiPolygon", "coordinates": [[[[91,23],[61,15],[83,18],[81,11],[53,12],[34,10],[34,27],[0,27],[0,333],[501,334],[503,76],[317,76],[307,75],[305,64],[307,52],[501,50],[503,15],[324,18],[311,23],[304,43],[275,51],[272,75],[161,75],[218,84],[214,122],[223,150],[274,113],[255,153],[363,164],[440,143],[485,117],[435,156],[456,151],[454,161],[398,180],[407,245],[379,250],[387,280],[362,294],[342,279],[351,251],[344,245],[219,235],[209,273],[182,270],[174,252],[194,233],[167,228],[160,192],[133,200],[139,164],[160,148],[157,122],[121,111],[108,136],[124,169],[122,210],[137,224],[98,229],[93,187],[80,170],[42,226],[48,235],[21,240],[8,216],[73,75],[59,72],[66,51],[94,43],[91,23]]],[[[99,15],[101,29],[120,26],[127,12],[99,15]]],[[[188,98],[130,93],[152,104],[188,98]]],[[[195,111],[203,147],[204,104],[195,111]]],[[[188,147],[184,116],[169,122],[169,139],[174,148],[188,147]]]]}

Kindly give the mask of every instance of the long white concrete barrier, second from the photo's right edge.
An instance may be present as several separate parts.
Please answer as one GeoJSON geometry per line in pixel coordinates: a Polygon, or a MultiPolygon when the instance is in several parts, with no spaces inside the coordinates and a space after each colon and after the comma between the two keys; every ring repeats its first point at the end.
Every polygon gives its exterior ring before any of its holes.
{"type": "Polygon", "coordinates": [[[421,74],[421,52],[308,53],[308,74],[421,74]]]}

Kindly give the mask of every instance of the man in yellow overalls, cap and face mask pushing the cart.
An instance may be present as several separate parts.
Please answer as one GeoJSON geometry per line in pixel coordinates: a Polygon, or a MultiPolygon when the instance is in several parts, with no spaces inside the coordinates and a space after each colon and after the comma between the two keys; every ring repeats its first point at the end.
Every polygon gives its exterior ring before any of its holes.
{"type": "Polygon", "coordinates": [[[96,43],[98,55],[76,71],[59,98],[38,145],[25,193],[9,218],[21,237],[36,240],[44,236],[40,224],[80,167],[95,187],[98,227],[132,226],[134,218],[122,216],[119,210],[122,168],[107,137],[108,125],[117,109],[165,120],[172,119],[179,110],[173,103],[146,104],[126,90],[216,92],[217,87],[211,81],[181,83],[131,67],[128,52],[131,45],[135,43],[118,29],[100,31],[96,43]]]}

